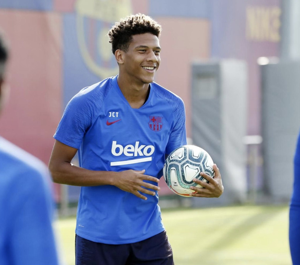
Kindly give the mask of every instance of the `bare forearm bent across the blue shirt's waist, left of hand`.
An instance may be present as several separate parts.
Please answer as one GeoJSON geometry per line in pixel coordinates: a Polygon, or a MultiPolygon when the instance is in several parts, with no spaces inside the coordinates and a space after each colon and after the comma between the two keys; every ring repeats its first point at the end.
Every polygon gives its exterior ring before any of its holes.
{"type": "Polygon", "coordinates": [[[111,185],[117,172],[95,171],[77,167],[68,162],[59,165],[49,164],[53,182],[73,186],[111,185]]]}

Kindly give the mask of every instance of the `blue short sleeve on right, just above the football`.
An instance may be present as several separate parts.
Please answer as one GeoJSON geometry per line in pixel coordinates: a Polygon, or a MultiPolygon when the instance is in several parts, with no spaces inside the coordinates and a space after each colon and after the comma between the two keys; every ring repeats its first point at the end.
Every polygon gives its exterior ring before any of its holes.
{"type": "Polygon", "coordinates": [[[184,103],[180,98],[178,98],[178,102],[174,107],[173,115],[174,126],[167,143],[166,155],[169,155],[176,148],[187,144],[185,130],[185,109],[184,103]]]}

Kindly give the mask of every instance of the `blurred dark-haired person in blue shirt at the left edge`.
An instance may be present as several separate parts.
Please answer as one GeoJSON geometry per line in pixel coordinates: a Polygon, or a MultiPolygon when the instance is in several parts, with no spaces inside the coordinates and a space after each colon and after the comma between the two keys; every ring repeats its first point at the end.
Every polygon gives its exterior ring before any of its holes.
{"type": "MultiPolygon", "coordinates": [[[[0,35],[0,111],[7,99],[7,45],[0,35]]],[[[57,265],[47,167],[0,137],[0,264],[57,265]]]]}

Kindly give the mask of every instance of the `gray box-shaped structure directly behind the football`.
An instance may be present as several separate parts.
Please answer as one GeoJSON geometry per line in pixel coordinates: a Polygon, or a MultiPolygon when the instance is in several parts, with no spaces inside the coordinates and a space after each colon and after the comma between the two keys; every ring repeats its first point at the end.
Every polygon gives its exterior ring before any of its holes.
{"type": "Polygon", "coordinates": [[[247,65],[228,59],[192,66],[192,139],[220,169],[224,193],[194,206],[224,205],[247,199],[247,65]]]}

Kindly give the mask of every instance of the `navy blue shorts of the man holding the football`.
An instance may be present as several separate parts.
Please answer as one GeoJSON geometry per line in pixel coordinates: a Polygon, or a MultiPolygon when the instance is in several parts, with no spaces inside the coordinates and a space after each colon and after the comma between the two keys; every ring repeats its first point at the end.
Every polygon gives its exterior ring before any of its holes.
{"type": "Polygon", "coordinates": [[[76,235],[76,265],[173,265],[166,231],[140,242],[110,245],[76,235]]]}

